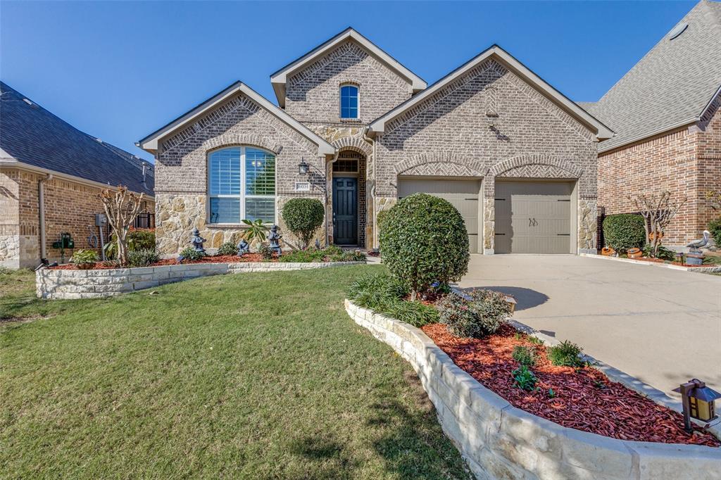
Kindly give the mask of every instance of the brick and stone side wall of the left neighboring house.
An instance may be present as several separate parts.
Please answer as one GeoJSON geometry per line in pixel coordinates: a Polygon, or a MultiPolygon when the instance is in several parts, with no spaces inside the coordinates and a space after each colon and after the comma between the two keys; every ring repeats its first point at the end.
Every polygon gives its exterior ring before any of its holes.
{"type": "MultiPolygon", "coordinates": [[[[0,173],[0,189],[5,192],[0,195],[0,265],[32,268],[40,264],[37,182],[43,178],[20,169],[0,173]]],[[[102,189],[58,177],[44,185],[45,249],[50,262],[59,262],[60,251],[53,249],[53,242],[62,232],[71,234],[76,249],[89,248],[88,226],[94,226],[95,214],[104,211],[99,199],[102,189]]],[[[154,200],[147,200],[147,205],[149,211],[154,210],[154,200]]],[[[72,252],[66,252],[66,260],[72,252]]]]}

